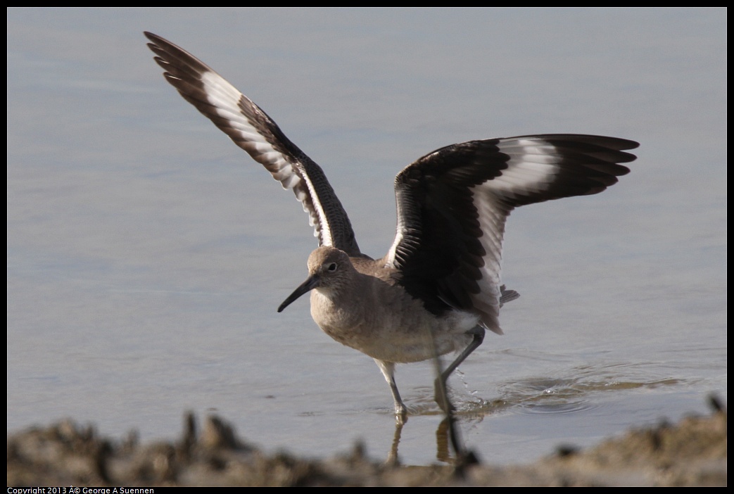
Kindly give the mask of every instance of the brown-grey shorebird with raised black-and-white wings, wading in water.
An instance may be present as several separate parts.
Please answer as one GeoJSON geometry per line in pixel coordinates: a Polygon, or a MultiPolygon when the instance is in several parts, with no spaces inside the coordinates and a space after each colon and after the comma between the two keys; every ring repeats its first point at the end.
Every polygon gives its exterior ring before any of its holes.
{"type": "Polygon", "coordinates": [[[310,291],[321,330],[374,359],[393,395],[396,418],[407,408],[395,382],[397,363],[459,352],[436,378],[446,379],[484,339],[502,334],[499,310],[519,297],[500,281],[504,225],[517,206],[592,195],[617,183],[636,159],[628,139],[541,134],[462,142],[437,149],[395,178],[397,227],[383,258],[357,246],[346,211],[319,165],[259,106],[206,64],[145,32],[165,79],[233,142],[264,165],[308,212],[319,247],[308,278],[277,308],[310,291]]]}

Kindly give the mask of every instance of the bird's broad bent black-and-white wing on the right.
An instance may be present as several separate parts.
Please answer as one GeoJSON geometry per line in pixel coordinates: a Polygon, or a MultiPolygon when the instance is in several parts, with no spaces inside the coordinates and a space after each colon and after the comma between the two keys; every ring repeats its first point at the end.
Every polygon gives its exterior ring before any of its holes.
{"type": "Polygon", "coordinates": [[[502,333],[500,263],[504,225],[517,206],[591,195],[617,183],[637,142],[547,134],[440,148],[395,178],[397,231],[385,256],[401,284],[440,314],[479,313],[502,333]]]}

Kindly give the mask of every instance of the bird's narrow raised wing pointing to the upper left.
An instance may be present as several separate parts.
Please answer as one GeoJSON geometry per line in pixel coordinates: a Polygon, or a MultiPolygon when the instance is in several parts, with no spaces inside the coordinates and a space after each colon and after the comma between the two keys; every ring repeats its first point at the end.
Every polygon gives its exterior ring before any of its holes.
{"type": "Polygon", "coordinates": [[[285,189],[293,189],[310,216],[319,245],[360,255],[349,217],[319,165],[314,163],[250,98],[206,64],[164,38],[145,32],[164,77],[285,189]]]}

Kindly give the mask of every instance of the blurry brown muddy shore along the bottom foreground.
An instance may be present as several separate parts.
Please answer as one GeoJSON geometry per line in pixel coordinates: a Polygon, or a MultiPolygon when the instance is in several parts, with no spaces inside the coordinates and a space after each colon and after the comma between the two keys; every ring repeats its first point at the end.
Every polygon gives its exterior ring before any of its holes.
{"type": "MultiPolygon", "coordinates": [[[[187,415],[177,441],[139,444],[131,433],[110,440],[91,426],[62,421],[7,439],[8,486],[177,485],[655,485],[725,486],[727,414],[712,399],[708,417],[631,430],[595,448],[559,448],[531,465],[387,465],[360,446],[341,457],[313,460],[267,455],[247,445],[222,419],[210,416],[200,432],[187,415]]],[[[337,448],[335,446],[335,448],[337,448]]]]}

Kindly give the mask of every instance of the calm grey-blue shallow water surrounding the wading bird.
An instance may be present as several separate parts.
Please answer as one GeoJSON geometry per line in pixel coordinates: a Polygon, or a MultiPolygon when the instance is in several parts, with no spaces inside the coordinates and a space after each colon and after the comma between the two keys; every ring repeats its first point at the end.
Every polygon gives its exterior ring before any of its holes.
{"type": "MultiPolygon", "coordinates": [[[[726,398],[725,10],[8,10],[7,426],[70,416],[172,437],[215,411],[272,450],[387,457],[368,357],[280,302],[316,246],[291,192],[161,77],[147,29],[227,77],[315,159],[360,247],[392,180],[451,142],[642,143],[601,195],[514,211],[504,336],[449,379],[491,462],[726,398]]],[[[407,463],[442,458],[430,363],[400,366],[407,463]]]]}

